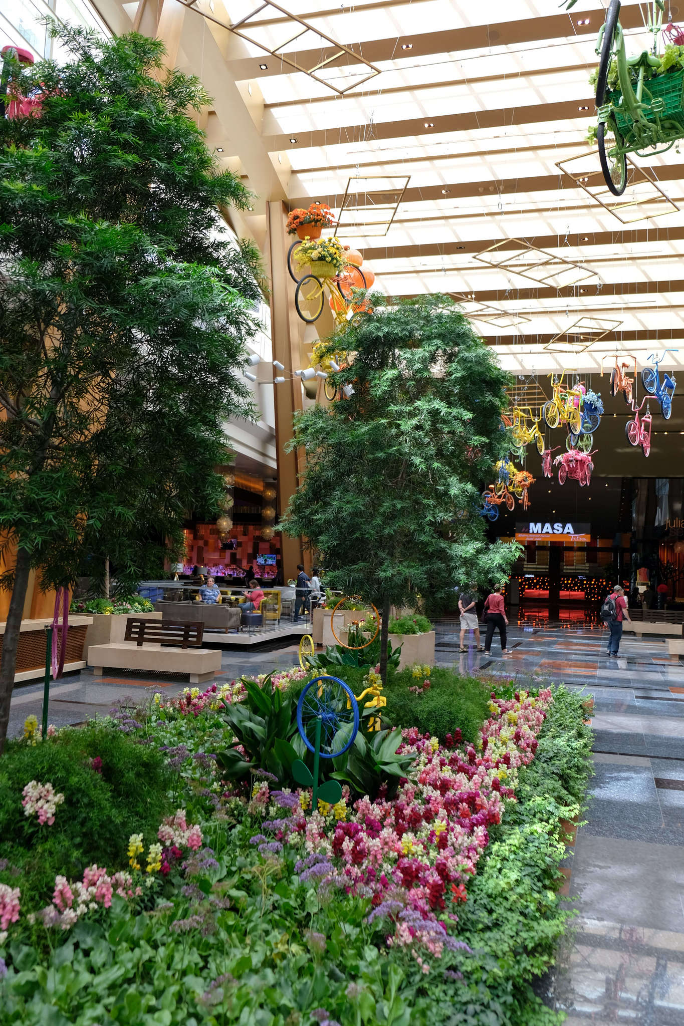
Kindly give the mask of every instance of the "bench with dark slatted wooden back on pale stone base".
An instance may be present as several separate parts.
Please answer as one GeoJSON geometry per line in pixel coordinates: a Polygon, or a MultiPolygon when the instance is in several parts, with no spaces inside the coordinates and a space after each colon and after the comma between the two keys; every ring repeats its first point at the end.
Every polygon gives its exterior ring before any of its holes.
{"type": "Polygon", "coordinates": [[[202,648],[203,634],[203,623],[129,617],[123,641],[90,645],[88,666],[97,674],[105,668],[187,673],[191,684],[203,683],[220,669],[220,652],[202,648]]]}

